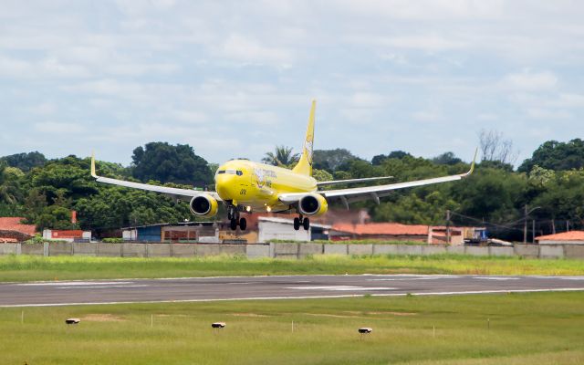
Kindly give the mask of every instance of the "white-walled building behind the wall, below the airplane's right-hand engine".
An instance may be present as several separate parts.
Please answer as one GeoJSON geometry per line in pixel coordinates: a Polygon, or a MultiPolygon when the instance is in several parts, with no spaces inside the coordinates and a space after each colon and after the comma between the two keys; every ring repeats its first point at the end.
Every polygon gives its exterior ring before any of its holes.
{"type": "Polygon", "coordinates": [[[270,240],[302,241],[309,242],[316,239],[328,239],[330,225],[311,223],[310,229],[294,229],[294,219],[273,216],[260,216],[258,218],[257,242],[265,243],[270,240]]]}

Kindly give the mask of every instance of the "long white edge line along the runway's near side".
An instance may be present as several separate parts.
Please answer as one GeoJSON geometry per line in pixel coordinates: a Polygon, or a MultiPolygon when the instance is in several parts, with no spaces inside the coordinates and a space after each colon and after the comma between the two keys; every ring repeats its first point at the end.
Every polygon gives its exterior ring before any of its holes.
{"type": "MultiPolygon", "coordinates": [[[[556,289],[517,289],[517,290],[470,290],[458,292],[428,292],[428,293],[381,293],[371,294],[371,297],[406,297],[406,296],[455,296],[465,294],[501,294],[501,293],[545,293],[545,292],[570,292],[584,291],[584,287],[561,287],[556,289]]],[[[88,303],[43,303],[43,304],[9,304],[0,305],[0,308],[20,307],[65,307],[65,306],[96,306],[111,304],[141,304],[141,303],[197,303],[197,302],[224,302],[230,300],[281,300],[281,299],[326,299],[336,297],[363,297],[362,294],[340,294],[331,296],[301,296],[301,297],[228,297],[214,299],[180,299],[180,300],[142,300],[120,302],[88,302],[88,303]]]]}

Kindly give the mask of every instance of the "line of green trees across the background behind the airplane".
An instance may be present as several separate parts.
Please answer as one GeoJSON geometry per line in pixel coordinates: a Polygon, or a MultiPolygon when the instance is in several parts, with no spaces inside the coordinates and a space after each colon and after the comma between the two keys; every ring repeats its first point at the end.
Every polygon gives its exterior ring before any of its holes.
{"type": "MultiPolygon", "coordinates": [[[[528,217],[537,221],[537,235],[567,226],[584,228],[584,141],[546,141],[514,169],[512,143],[500,134],[485,136],[481,160],[470,178],[396,191],[379,205],[351,207],[368,209],[376,222],[404,224],[445,224],[445,211],[450,210],[454,224],[486,225],[495,235],[520,239],[527,205],[537,208],[528,217]]],[[[297,157],[279,146],[263,161],[291,167],[297,157]]],[[[89,164],[89,158],[73,155],[47,160],[37,151],[1,157],[0,216],[24,216],[39,229],[82,228],[99,235],[123,226],[194,219],[186,203],[96,183],[89,164]],[[73,210],[78,212],[75,224],[73,210]]],[[[431,159],[389,151],[368,161],[336,149],[314,151],[313,166],[320,181],[391,175],[397,183],[465,172],[469,163],[449,151],[431,159]]],[[[133,151],[130,166],[97,162],[97,167],[101,175],[114,178],[212,189],[217,164],[206,162],[189,145],[151,142],[133,151]]]]}

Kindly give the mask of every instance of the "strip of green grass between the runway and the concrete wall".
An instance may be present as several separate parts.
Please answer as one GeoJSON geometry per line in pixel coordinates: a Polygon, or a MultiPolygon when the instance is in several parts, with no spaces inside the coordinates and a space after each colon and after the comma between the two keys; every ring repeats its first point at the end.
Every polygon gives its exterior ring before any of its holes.
{"type": "Polygon", "coordinates": [[[302,274],[584,275],[583,260],[471,255],[314,255],[301,260],[241,256],[121,258],[0,256],[0,281],[302,274]]]}

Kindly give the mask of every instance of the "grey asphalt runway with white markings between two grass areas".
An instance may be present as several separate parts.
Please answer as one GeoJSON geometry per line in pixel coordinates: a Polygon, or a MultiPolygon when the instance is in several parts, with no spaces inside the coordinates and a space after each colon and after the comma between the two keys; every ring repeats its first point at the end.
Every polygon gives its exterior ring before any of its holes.
{"type": "Polygon", "coordinates": [[[584,276],[225,276],[0,284],[0,307],[584,290],[584,276]]]}

